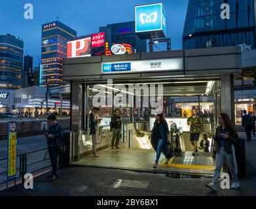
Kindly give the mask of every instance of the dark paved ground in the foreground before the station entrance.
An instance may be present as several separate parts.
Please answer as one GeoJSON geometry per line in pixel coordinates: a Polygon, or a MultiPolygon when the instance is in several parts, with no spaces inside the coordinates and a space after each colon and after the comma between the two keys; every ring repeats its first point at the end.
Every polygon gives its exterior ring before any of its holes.
{"type": "MultiPolygon", "coordinates": [[[[244,133],[240,137],[245,137],[244,133]]],[[[37,140],[41,146],[44,145],[40,137],[37,140]]],[[[26,144],[26,140],[23,141],[26,144]]],[[[209,178],[183,176],[175,179],[163,174],[71,167],[60,170],[60,177],[55,182],[50,182],[43,174],[35,178],[34,189],[26,190],[18,185],[9,191],[2,191],[0,195],[256,195],[255,149],[256,137],[252,142],[246,142],[247,178],[240,180],[241,188],[238,190],[219,189],[213,193],[205,186],[209,178]]]]}

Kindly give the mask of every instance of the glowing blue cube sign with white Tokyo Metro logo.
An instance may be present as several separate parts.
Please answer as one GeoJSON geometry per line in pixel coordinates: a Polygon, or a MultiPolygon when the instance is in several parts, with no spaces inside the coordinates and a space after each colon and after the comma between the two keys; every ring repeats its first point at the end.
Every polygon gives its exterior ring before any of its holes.
{"type": "Polygon", "coordinates": [[[166,37],[166,12],[162,3],[136,7],[136,33],[147,37],[155,31],[155,37],[166,37]]]}

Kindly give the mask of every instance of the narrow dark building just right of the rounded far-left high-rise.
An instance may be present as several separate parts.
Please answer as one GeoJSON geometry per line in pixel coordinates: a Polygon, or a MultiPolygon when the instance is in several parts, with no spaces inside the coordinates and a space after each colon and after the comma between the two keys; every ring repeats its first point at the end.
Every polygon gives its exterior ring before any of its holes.
{"type": "Polygon", "coordinates": [[[33,57],[24,56],[23,88],[33,86],[33,57]]]}

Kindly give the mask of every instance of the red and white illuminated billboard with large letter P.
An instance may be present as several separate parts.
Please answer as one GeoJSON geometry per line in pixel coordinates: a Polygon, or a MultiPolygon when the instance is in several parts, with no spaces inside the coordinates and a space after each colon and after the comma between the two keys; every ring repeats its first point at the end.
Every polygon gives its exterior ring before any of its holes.
{"type": "Polygon", "coordinates": [[[67,58],[90,57],[92,52],[91,37],[67,42],[67,58]]]}

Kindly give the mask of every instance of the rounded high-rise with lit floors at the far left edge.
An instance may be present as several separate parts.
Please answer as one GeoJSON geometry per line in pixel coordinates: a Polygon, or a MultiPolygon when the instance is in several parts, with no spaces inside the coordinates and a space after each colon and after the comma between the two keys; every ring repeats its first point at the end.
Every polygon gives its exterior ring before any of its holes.
{"type": "Polygon", "coordinates": [[[22,88],[24,42],[0,35],[0,89],[22,88]]]}

